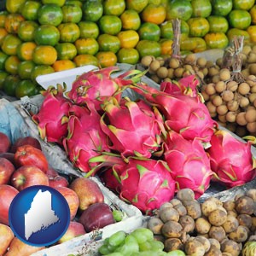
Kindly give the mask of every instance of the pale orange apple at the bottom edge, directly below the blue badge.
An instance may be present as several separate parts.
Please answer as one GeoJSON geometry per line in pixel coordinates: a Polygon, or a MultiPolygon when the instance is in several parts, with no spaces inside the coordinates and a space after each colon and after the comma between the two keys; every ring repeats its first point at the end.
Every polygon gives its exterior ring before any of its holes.
{"type": "Polygon", "coordinates": [[[15,236],[9,245],[8,252],[5,253],[4,256],[29,256],[32,253],[36,253],[42,249],[44,249],[44,247],[33,247],[15,236]]]}

